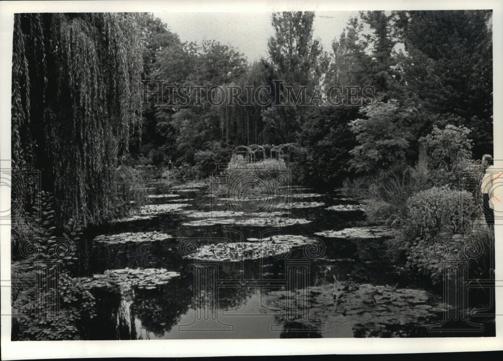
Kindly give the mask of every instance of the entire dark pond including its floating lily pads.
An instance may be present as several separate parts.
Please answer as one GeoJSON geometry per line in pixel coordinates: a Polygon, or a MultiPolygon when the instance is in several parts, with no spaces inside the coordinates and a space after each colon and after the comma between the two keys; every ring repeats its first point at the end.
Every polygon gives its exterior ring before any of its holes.
{"type": "Polygon", "coordinates": [[[432,337],[444,305],[384,257],[393,237],[342,191],[146,185],[148,205],[78,247],[85,338],[432,337]],[[267,207],[262,207],[264,204],[267,207]],[[250,211],[248,211],[250,210],[250,211]]]}

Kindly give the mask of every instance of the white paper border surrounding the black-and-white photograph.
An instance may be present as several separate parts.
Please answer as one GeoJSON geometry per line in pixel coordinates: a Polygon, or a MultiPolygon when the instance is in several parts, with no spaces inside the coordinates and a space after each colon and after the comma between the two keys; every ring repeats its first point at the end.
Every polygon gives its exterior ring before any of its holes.
{"type": "MultiPolygon", "coordinates": [[[[353,1],[334,3],[265,0],[253,3],[218,0],[205,2],[152,1],[75,1],[75,2],[2,2],[0,3],[0,160],[2,168],[10,167],[11,67],[14,13],[35,12],[274,12],[293,10],[354,11],[354,10],[476,10],[493,11],[493,138],[494,159],[503,159],[503,3],[500,0],[450,1],[353,1]],[[499,139],[499,140],[496,140],[499,139]]],[[[334,36],[336,36],[334,34],[334,36]]],[[[495,164],[502,167],[502,164],[495,164]]],[[[6,187],[3,187],[6,188],[6,187]]],[[[2,189],[0,202],[10,203],[10,190],[2,189]]],[[[495,279],[503,280],[501,265],[502,226],[495,227],[495,279]]],[[[135,340],[135,341],[11,341],[10,322],[10,225],[0,226],[2,359],[74,358],[74,357],[134,357],[134,356],[227,356],[227,355],[292,355],[292,354],[363,354],[363,353],[422,353],[500,350],[503,344],[503,281],[497,281],[496,337],[440,338],[322,338],[322,339],[236,339],[236,340],[135,340]],[[195,347],[194,347],[195,346],[195,347]]]]}

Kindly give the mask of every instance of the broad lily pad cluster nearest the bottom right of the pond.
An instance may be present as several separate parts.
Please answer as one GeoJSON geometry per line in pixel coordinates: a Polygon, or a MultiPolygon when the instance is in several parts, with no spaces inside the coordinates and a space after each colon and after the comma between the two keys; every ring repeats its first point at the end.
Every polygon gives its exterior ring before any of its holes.
{"type": "Polygon", "coordinates": [[[265,307],[283,310],[284,315],[293,319],[308,310],[309,322],[325,326],[324,337],[340,337],[341,330],[351,332],[355,325],[367,322],[414,324],[445,311],[443,304],[430,302],[426,291],[354,282],[273,291],[262,298],[265,307]]]}

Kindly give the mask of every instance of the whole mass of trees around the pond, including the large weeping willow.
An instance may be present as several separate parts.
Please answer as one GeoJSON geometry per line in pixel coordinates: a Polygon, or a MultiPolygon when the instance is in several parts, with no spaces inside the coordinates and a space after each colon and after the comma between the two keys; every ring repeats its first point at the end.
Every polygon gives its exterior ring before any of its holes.
{"type": "Polygon", "coordinates": [[[413,166],[421,139],[447,124],[470,131],[473,157],[492,153],[490,11],[361,12],[328,51],[313,38],[314,18],[273,14],[269,57],[249,64],[217,41],[182,42],[150,14],[16,15],[14,166],[42,171],[63,218],[99,223],[124,205],[123,162],[199,165],[204,176],[236,146],[295,143],[298,180],[333,186],[354,172],[413,166]],[[283,82],[273,104],[214,106],[204,96],[142,103],[141,80],[240,89],[283,82]],[[374,87],[375,101],[274,104],[287,89],[305,87],[310,98],[334,86],[374,87]]]}

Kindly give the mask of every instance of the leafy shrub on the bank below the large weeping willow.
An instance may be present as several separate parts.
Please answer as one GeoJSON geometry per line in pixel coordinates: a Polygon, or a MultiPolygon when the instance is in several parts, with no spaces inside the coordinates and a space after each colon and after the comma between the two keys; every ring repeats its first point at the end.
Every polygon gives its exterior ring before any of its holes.
{"type": "MultiPolygon", "coordinates": [[[[14,309],[20,311],[20,314],[30,315],[13,319],[12,337],[13,340],[76,339],[79,335],[79,329],[95,316],[95,299],[66,273],[65,268],[72,264],[76,258],[73,252],[67,252],[66,255],[61,253],[56,255],[56,249],[61,246],[61,243],[58,246],[55,239],[56,237],[66,239],[68,242],[65,242],[64,245],[68,246],[68,250],[70,250],[71,245],[77,245],[80,241],[82,225],[70,218],[60,229],[57,229],[55,227],[53,197],[50,193],[42,191],[39,198],[40,202],[34,208],[37,211],[36,214],[40,214],[40,218],[36,222],[26,218],[22,220],[23,224],[16,223],[12,228],[12,305],[14,309]],[[22,253],[20,254],[19,246],[25,241],[35,243],[33,247],[36,247],[40,253],[29,258],[22,253]],[[54,286],[55,274],[53,274],[54,278],[42,277],[41,280],[45,279],[48,283],[41,284],[42,287],[37,296],[34,287],[27,289],[21,285],[23,281],[37,279],[35,265],[38,262],[42,262],[47,267],[56,267],[56,265],[61,267],[57,272],[57,287],[54,286]],[[59,292],[59,295],[52,292],[54,288],[59,292]],[[58,314],[47,314],[37,319],[35,311],[43,314],[45,312],[44,305],[46,305],[39,301],[55,303],[58,301],[55,297],[60,301],[58,314]],[[22,327],[28,329],[23,331],[22,327]]],[[[38,272],[50,276],[51,273],[45,273],[45,271],[44,268],[38,270],[38,272]]]]}

